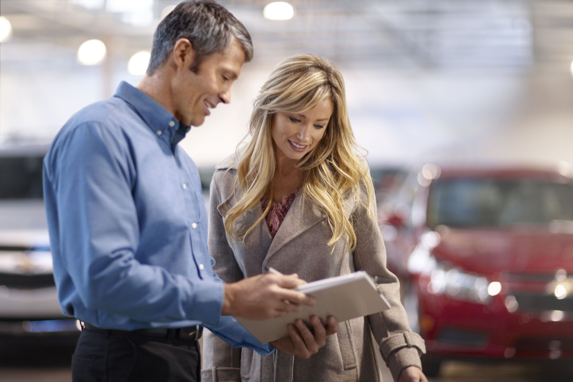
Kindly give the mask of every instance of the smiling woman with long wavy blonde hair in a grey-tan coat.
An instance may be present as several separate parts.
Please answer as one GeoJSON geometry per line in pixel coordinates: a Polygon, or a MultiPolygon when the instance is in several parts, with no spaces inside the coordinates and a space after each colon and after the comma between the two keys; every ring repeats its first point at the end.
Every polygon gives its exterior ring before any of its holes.
{"type": "Polygon", "coordinates": [[[425,348],[386,269],[372,180],[356,153],[338,69],[309,54],[282,61],[254,102],[249,133],[211,182],[214,271],[234,282],[273,267],[310,282],[364,270],[378,276],[391,309],[339,323],[306,360],[278,350],[263,357],[207,334],[203,380],[376,381],[372,331],[395,380],[425,381],[425,348]]]}

